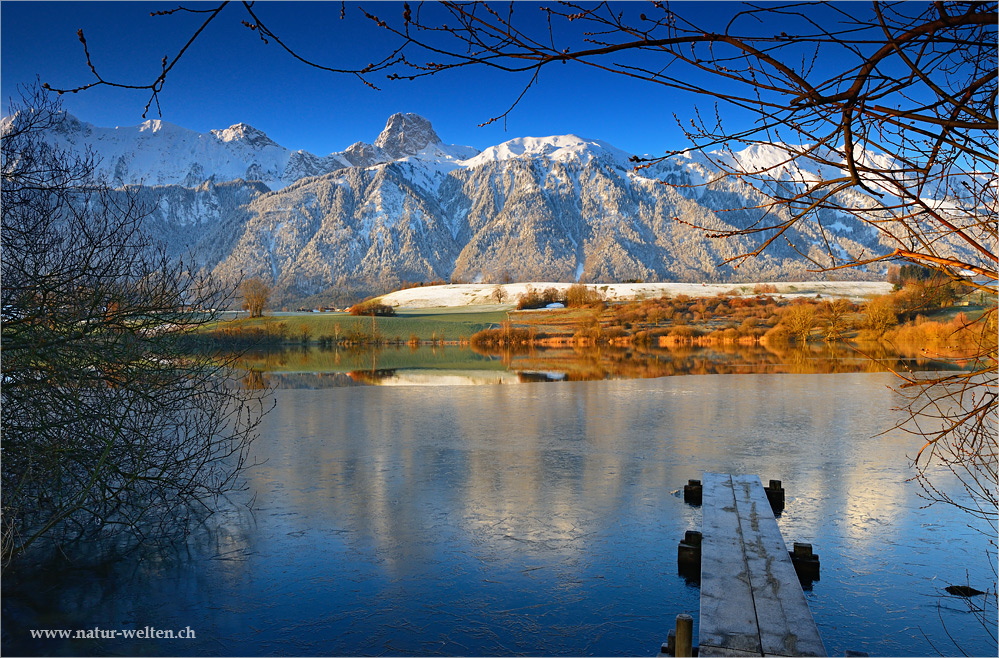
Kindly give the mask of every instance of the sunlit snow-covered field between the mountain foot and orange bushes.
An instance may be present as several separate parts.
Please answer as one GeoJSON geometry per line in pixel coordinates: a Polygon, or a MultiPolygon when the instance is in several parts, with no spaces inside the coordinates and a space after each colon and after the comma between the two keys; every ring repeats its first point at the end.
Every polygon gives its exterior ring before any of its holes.
{"type": "MultiPolygon", "coordinates": [[[[496,289],[503,290],[503,302],[509,308],[516,304],[517,297],[527,291],[528,286],[542,291],[545,288],[564,290],[571,283],[531,282],[531,283],[464,283],[448,286],[425,286],[410,288],[383,295],[384,304],[397,309],[452,308],[459,306],[491,305],[496,308],[496,289]]],[[[599,291],[608,301],[624,301],[643,297],[689,295],[691,297],[712,297],[724,292],[733,292],[751,297],[755,293],[755,283],[592,283],[588,288],[599,291]]],[[[892,285],[887,281],[776,281],[776,294],[783,297],[845,297],[852,301],[864,301],[874,295],[891,292],[892,285]]]]}

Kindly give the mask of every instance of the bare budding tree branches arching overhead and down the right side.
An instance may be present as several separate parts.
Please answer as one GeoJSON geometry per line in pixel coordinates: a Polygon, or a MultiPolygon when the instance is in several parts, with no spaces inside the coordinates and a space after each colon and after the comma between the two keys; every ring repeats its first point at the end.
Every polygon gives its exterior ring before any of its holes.
{"type": "MultiPolygon", "coordinates": [[[[213,21],[241,12],[260,40],[303,65],[343,73],[374,86],[380,76],[418,79],[452,70],[491,68],[523,74],[505,118],[556,65],[590,67],[653,87],[698,95],[710,103],[677,116],[689,144],[649,167],[697,152],[720,174],[702,183],[751,199],[758,221],[745,228],[702,226],[724,239],[757,237],[755,248],[730,259],[738,266],[776,242],[809,259],[815,271],[920,264],[965,290],[994,292],[997,280],[996,2],[874,2],[715,5],[693,15],[690,3],[638,5],[479,2],[373,5],[365,20],[394,43],[360,67],[304,56],[293,35],[271,27],[266,5],[221,3],[199,9],[203,24],[176,55],[164,58],[148,84],[104,79],[83,33],[95,76],[76,90],[101,86],[150,92],[146,110],[188,46],[213,21]],[[389,16],[388,14],[392,14],[389,16]],[[733,115],[749,116],[737,123],[733,115]],[[779,157],[754,163],[755,147],[779,157]],[[837,214],[882,236],[878,253],[844,253],[791,242],[789,229],[837,214]]],[[[171,12],[187,11],[181,7],[171,12]]],[[[341,18],[349,20],[346,7],[341,18]]],[[[68,90],[65,90],[68,91],[68,90]]],[[[655,111],[656,108],[649,108],[655,111]]],[[[677,183],[672,183],[677,184],[677,183]]],[[[740,210],[731,208],[729,210],[740,210]]],[[[725,212],[720,209],[718,212],[725,212]]],[[[679,221],[679,220],[678,220],[679,221]]],[[[949,464],[977,500],[978,514],[996,521],[996,308],[974,321],[980,336],[971,372],[922,378],[899,373],[914,392],[913,428],[924,440],[918,463],[949,464]],[[929,424],[926,424],[929,423],[929,424]],[[948,457],[953,456],[953,458],[948,457]]],[[[932,497],[940,497],[923,480],[932,497]]]]}

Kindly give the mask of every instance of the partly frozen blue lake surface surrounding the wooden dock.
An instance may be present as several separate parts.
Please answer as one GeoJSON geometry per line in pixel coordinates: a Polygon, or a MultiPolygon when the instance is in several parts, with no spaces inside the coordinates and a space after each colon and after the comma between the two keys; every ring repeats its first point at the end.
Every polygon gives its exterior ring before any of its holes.
{"type": "Polygon", "coordinates": [[[806,596],[830,655],[959,655],[951,637],[996,655],[968,607],[983,598],[944,592],[994,591],[991,531],[924,508],[918,445],[886,432],[891,375],[446,381],[279,388],[252,510],[234,501],[178,550],[5,576],[3,653],[655,655],[698,612],[676,547],[701,513],[678,491],[721,471],[783,481],[785,540],[821,559],[806,596]],[[28,634],[95,626],[196,639],[28,634]]]}

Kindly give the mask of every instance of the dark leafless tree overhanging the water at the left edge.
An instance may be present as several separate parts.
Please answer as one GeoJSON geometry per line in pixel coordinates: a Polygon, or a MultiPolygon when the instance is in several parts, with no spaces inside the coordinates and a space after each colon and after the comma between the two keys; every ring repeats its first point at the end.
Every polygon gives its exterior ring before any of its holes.
{"type": "Polygon", "coordinates": [[[168,259],[92,157],[50,147],[36,93],[2,124],[2,560],[38,543],[188,530],[238,485],[262,392],[185,336],[224,291],[168,259]]]}

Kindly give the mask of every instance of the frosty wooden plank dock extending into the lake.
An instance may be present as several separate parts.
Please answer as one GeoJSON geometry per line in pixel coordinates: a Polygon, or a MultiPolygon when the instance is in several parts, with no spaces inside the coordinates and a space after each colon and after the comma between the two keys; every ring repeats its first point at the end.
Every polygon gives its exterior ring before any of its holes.
{"type": "Polygon", "coordinates": [[[825,656],[759,478],[702,484],[699,655],[825,656]]]}

